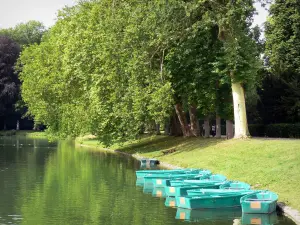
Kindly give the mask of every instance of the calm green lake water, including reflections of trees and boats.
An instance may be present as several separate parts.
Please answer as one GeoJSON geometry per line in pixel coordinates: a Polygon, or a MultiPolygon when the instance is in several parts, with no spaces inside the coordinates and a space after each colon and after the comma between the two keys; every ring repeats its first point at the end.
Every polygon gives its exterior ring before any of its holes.
{"type": "Polygon", "coordinates": [[[68,142],[0,139],[0,225],[294,224],[240,209],[184,211],[136,187],[139,162],[124,155],[75,150],[68,142]],[[250,222],[249,222],[250,221],[250,222]]]}

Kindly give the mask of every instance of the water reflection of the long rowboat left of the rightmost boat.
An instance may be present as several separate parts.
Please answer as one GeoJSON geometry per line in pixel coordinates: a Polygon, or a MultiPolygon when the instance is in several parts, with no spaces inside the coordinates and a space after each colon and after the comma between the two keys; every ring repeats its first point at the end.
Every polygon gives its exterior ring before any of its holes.
{"type": "Polygon", "coordinates": [[[199,222],[205,220],[230,220],[242,217],[241,208],[224,208],[224,209],[183,209],[177,208],[176,219],[189,222],[199,222]]]}

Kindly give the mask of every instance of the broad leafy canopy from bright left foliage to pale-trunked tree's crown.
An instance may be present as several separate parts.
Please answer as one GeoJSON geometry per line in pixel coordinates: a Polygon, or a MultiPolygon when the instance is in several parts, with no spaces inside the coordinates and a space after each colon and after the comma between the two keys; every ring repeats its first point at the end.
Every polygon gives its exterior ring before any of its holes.
{"type": "Polygon", "coordinates": [[[217,107],[232,117],[230,84],[252,87],[258,57],[249,29],[253,5],[225,2],[221,11],[181,0],[65,8],[42,42],[22,52],[29,115],[50,133],[90,133],[105,144],[162,124],[178,98],[201,114],[217,107]],[[225,27],[230,37],[222,43],[225,27]]]}

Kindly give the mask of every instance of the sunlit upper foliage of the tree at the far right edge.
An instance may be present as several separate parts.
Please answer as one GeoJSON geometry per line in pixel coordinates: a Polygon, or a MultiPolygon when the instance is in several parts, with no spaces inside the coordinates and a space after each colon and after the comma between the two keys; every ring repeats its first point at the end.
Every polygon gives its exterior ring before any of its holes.
{"type": "Polygon", "coordinates": [[[276,0],[266,24],[266,55],[273,73],[300,74],[300,6],[276,0]]]}

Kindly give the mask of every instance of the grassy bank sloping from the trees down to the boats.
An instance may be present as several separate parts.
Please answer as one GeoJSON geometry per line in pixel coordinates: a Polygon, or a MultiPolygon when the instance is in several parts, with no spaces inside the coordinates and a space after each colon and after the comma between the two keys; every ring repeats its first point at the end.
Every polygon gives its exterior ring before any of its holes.
{"type": "MultiPolygon", "coordinates": [[[[80,143],[101,148],[95,139],[80,143]]],[[[253,188],[274,191],[279,201],[300,210],[300,140],[148,136],[112,148],[182,167],[210,169],[253,188]]]]}

